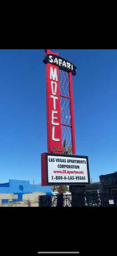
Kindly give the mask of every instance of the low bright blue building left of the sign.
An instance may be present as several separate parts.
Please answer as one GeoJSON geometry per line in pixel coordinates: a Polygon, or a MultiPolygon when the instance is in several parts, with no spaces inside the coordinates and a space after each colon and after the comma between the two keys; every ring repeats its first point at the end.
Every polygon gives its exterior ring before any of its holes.
{"type": "MultiPolygon", "coordinates": [[[[29,181],[9,179],[8,183],[0,184],[0,199],[9,199],[9,194],[17,195],[16,198],[37,200],[38,195],[52,195],[52,187],[31,185],[29,181]]],[[[3,202],[4,200],[2,200],[3,202]]],[[[15,202],[16,199],[13,199],[15,202]]]]}

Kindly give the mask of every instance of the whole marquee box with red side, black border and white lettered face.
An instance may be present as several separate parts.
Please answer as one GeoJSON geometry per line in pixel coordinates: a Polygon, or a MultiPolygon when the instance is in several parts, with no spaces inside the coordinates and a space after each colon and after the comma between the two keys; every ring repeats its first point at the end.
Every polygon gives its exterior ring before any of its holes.
{"type": "Polygon", "coordinates": [[[90,184],[88,156],[41,154],[42,186],[90,184]]]}

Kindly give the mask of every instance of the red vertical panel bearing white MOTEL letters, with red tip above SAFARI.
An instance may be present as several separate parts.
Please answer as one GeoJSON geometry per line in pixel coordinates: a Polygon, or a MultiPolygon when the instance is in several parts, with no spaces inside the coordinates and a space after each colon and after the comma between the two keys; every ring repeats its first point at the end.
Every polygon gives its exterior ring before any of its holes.
{"type": "MultiPolygon", "coordinates": [[[[45,55],[54,54],[50,50],[45,50],[45,55]]],[[[58,53],[55,55],[58,56],[58,53]]],[[[59,67],[46,64],[46,108],[47,108],[47,152],[57,153],[64,151],[61,140],[60,121],[60,91],[59,91],[59,67]]]]}

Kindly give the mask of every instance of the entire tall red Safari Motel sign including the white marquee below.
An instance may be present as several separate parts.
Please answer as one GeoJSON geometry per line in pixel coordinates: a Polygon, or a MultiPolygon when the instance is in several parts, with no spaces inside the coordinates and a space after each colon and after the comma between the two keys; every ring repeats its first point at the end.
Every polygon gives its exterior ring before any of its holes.
{"type": "Polygon", "coordinates": [[[90,184],[88,156],[76,155],[70,61],[46,49],[47,152],[41,154],[41,185],[90,184]]]}

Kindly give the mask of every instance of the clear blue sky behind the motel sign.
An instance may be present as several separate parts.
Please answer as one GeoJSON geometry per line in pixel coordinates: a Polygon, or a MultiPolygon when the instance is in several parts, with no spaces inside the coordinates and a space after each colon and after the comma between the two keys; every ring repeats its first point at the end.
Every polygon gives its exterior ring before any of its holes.
{"type": "MultiPolygon", "coordinates": [[[[76,67],[76,155],[89,156],[92,182],[117,172],[117,50],[61,50],[76,67]]],[[[0,183],[41,182],[47,152],[44,49],[0,50],[0,183]]]]}

